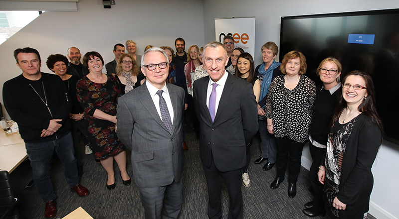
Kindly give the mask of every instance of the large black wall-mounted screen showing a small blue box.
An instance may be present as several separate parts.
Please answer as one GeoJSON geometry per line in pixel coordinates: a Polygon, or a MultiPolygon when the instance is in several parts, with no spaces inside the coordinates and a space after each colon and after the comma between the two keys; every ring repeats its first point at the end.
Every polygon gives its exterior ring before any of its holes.
{"type": "Polygon", "coordinates": [[[280,61],[302,52],[316,84],[319,63],[337,58],[341,79],[353,70],[373,78],[386,136],[399,142],[399,9],[281,17],[280,61]]]}

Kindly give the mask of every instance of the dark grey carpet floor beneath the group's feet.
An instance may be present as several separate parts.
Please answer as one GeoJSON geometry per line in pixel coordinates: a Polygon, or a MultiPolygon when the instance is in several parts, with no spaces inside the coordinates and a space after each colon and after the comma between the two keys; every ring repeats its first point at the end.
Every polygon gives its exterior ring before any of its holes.
{"type": "MultiPolygon", "coordinates": [[[[199,142],[194,131],[188,128],[186,142],[189,150],[185,152],[184,181],[183,181],[183,206],[181,219],[206,219],[207,192],[200,157],[199,142]]],[[[116,163],[116,189],[106,189],[106,172],[101,164],[94,161],[92,155],[84,155],[83,145],[81,154],[84,162],[84,174],[81,184],[90,190],[87,197],[80,198],[70,192],[63,176],[62,164],[58,159],[52,162],[50,176],[54,191],[57,196],[57,216],[65,217],[78,207],[82,207],[94,219],[142,219],[144,210],[140,203],[138,187],[125,186],[119,176],[116,163]]],[[[303,204],[312,199],[308,188],[308,171],[301,168],[297,183],[297,196],[290,199],[287,195],[288,182],[285,180],[278,189],[271,190],[276,170],[263,171],[263,164],[253,163],[260,156],[259,140],[255,137],[251,148],[251,163],[249,165],[249,178],[251,185],[242,187],[244,201],[244,219],[310,219],[302,214],[303,204]]],[[[130,153],[128,152],[128,172],[131,175],[130,153]]],[[[44,203],[37,194],[33,185],[25,189],[25,185],[31,179],[32,173],[29,161],[22,163],[11,174],[11,182],[14,195],[18,198],[18,212],[21,219],[44,219],[44,203]]],[[[133,179],[133,177],[132,177],[133,179]]],[[[287,176],[286,176],[287,179],[287,176]]],[[[227,218],[228,196],[225,187],[222,189],[223,219],[227,218]]],[[[316,217],[322,219],[328,217],[316,217]]],[[[375,219],[368,216],[368,219],[375,219]]]]}

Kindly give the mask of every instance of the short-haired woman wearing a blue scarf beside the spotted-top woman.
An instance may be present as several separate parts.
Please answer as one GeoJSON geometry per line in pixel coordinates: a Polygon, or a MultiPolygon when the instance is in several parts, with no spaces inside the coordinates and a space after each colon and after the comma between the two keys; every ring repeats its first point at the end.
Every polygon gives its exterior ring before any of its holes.
{"type": "Polygon", "coordinates": [[[263,170],[267,171],[273,168],[276,163],[277,145],[273,134],[267,131],[267,121],[265,117],[264,107],[266,104],[266,96],[269,90],[271,81],[281,74],[281,63],[274,61],[278,53],[278,47],[274,42],[265,43],[262,48],[263,63],[258,65],[255,69],[257,80],[254,88],[260,88],[259,103],[258,103],[258,117],[259,117],[259,134],[260,134],[260,158],[255,160],[255,164],[261,164],[267,160],[263,166],[263,170]]]}

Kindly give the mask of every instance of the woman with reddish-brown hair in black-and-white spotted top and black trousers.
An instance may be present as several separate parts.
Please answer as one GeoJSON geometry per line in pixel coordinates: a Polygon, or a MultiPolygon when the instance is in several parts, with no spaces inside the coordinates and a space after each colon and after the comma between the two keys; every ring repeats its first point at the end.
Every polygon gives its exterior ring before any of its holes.
{"type": "Polygon", "coordinates": [[[277,176],[271,189],[284,180],[289,164],[288,196],[296,195],[296,181],[301,169],[302,148],[309,136],[316,85],[306,77],[306,58],[298,51],[285,54],[282,75],[273,79],[266,101],[267,130],[277,144],[277,176]]]}

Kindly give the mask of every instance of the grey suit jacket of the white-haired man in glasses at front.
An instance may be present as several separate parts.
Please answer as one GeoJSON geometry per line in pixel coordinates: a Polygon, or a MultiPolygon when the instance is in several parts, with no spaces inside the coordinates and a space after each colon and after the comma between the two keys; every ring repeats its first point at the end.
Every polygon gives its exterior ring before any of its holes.
{"type": "Polygon", "coordinates": [[[184,90],[166,86],[174,110],[172,134],[154,106],[147,83],[118,99],[117,134],[132,151],[133,176],[141,188],[166,186],[182,178],[184,90]]]}

